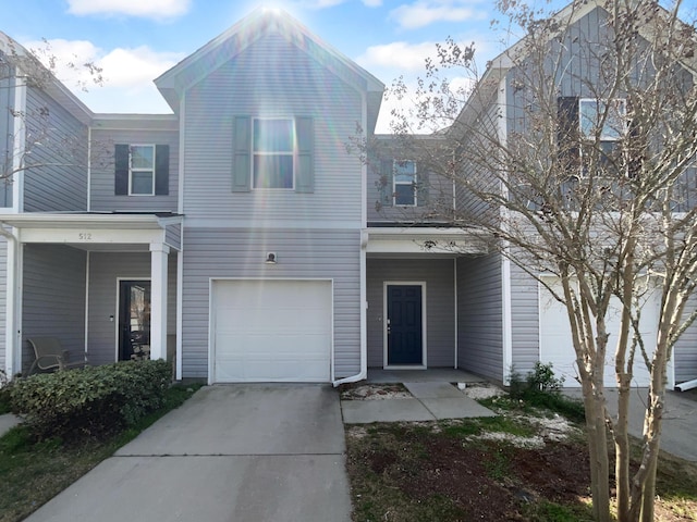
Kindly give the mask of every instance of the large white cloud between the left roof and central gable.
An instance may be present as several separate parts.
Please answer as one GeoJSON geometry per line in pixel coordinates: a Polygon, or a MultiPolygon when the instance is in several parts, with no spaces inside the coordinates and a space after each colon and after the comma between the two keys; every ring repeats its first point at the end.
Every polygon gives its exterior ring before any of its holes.
{"type": "Polygon", "coordinates": [[[161,53],[142,46],[105,51],[84,40],[49,40],[27,42],[32,50],[44,50],[45,63],[54,59],[54,73],[95,112],[169,112],[152,80],[175,65],[183,55],[161,53]],[[105,83],[97,86],[82,64],[93,62],[102,69],[105,83]],[[70,65],[73,64],[73,65],[70,65]],[[82,86],[87,86],[85,92],[82,86]]]}

